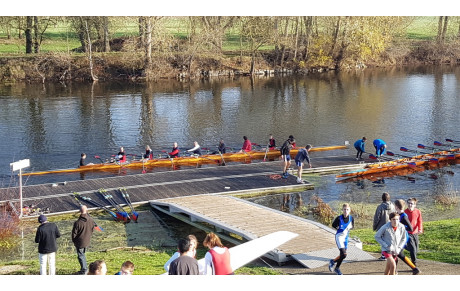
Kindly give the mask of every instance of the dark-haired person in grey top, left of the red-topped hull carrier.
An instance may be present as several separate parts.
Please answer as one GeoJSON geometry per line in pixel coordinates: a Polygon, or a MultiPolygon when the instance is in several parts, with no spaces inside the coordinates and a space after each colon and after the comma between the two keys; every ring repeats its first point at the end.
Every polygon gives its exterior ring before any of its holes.
{"type": "Polygon", "coordinates": [[[194,258],[195,249],[188,238],[181,238],[177,244],[180,256],[169,266],[169,275],[199,275],[198,261],[194,258]]]}

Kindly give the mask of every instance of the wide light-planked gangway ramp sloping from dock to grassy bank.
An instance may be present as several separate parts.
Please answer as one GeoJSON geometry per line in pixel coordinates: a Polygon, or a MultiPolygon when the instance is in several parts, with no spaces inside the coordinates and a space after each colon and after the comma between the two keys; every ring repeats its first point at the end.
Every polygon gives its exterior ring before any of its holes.
{"type": "MultiPolygon", "coordinates": [[[[317,268],[339,254],[333,229],[236,197],[209,194],[154,200],[149,203],[155,209],[187,223],[195,226],[198,223],[211,224],[217,232],[224,230],[246,240],[280,230],[299,234],[267,254],[268,258],[279,264],[295,259],[307,268],[317,268]]],[[[375,258],[356,247],[355,242],[350,240],[345,262],[364,260],[375,258]]]]}

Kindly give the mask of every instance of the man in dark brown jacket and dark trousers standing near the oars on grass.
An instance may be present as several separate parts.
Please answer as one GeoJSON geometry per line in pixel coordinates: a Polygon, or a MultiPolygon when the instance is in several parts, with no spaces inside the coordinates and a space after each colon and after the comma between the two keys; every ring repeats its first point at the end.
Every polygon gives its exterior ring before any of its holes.
{"type": "Polygon", "coordinates": [[[88,272],[88,264],[86,262],[86,248],[91,242],[94,227],[96,223],[88,215],[88,208],[84,205],[80,207],[80,217],[75,221],[72,228],[72,242],[77,250],[78,262],[80,263],[80,271],[78,274],[86,274],[88,272]]]}

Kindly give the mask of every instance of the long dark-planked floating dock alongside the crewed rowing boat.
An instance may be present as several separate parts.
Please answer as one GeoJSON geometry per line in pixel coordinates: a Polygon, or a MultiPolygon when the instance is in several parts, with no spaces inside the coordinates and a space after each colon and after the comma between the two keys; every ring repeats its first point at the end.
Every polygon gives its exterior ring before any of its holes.
{"type": "MultiPolygon", "coordinates": [[[[316,171],[339,167],[361,167],[350,156],[316,158],[316,171]]],[[[269,193],[270,191],[302,191],[311,185],[296,183],[295,177],[271,179],[270,175],[280,174],[279,162],[258,162],[252,164],[234,164],[225,167],[203,167],[167,172],[154,172],[137,175],[117,176],[91,180],[69,181],[31,185],[23,187],[24,205],[38,205],[50,208],[50,214],[78,211],[78,203],[72,197],[73,192],[85,194],[92,200],[110,206],[97,190],[104,188],[117,202],[124,204],[118,188],[126,188],[133,204],[147,203],[150,200],[200,195],[209,193],[269,193]]],[[[19,188],[0,188],[0,203],[19,201],[19,188]]],[[[89,208],[93,208],[89,206],[89,208]]]]}

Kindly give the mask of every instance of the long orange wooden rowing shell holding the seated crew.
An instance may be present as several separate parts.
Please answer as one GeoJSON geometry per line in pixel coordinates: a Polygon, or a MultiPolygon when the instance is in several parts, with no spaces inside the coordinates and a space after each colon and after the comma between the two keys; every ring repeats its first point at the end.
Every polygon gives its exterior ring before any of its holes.
{"type": "MultiPolygon", "coordinates": [[[[331,150],[341,150],[347,149],[346,145],[340,146],[321,146],[313,147],[309,152],[321,152],[321,151],[331,151],[331,150]]],[[[291,155],[296,155],[299,151],[299,148],[291,150],[291,155]]],[[[126,163],[101,163],[101,164],[92,164],[81,166],[78,168],[72,169],[60,169],[60,170],[50,170],[50,171],[41,171],[41,172],[31,172],[23,173],[24,176],[36,176],[36,175],[45,175],[45,174],[64,174],[64,173],[77,173],[77,172],[89,172],[89,171],[117,171],[123,168],[130,169],[143,169],[143,168],[157,168],[157,167],[172,167],[177,166],[199,166],[205,164],[220,164],[225,162],[247,162],[248,160],[274,160],[280,157],[280,151],[277,149],[273,150],[260,150],[260,151],[250,151],[250,152],[235,152],[235,153],[225,153],[225,154],[209,154],[202,156],[187,156],[187,157],[177,157],[177,158],[159,158],[151,160],[132,160],[126,163]]]]}

